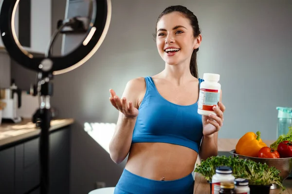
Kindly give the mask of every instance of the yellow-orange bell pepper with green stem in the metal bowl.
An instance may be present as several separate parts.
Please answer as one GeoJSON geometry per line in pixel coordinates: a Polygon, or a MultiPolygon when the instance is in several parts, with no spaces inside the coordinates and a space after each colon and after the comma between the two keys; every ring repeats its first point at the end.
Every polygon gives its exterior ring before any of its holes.
{"type": "Polygon", "coordinates": [[[258,151],[267,146],[260,138],[260,131],[245,133],[237,142],[235,151],[237,154],[257,157],[258,151]]]}

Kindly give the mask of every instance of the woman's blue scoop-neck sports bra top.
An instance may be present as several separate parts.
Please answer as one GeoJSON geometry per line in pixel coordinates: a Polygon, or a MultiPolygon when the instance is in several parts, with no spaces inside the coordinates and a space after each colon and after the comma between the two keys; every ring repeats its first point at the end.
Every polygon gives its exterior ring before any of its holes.
{"type": "MultiPolygon", "coordinates": [[[[139,107],[132,144],[162,142],[189,147],[199,153],[203,136],[198,101],[177,105],[162,97],[151,77],[146,77],[146,94],[139,107]]],[[[199,88],[203,80],[199,79],[199,88]]],[[[199,91],[198,91],[199,93],[199,91]]]]}

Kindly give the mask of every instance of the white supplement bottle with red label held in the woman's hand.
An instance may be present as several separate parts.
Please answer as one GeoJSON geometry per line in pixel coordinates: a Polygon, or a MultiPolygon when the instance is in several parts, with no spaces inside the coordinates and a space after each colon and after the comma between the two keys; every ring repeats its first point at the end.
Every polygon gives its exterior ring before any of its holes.
{"type": "Polygon", "coordinates": [[[215,114],[214,106],[218,106],[220,100],[221,84],[218,83],[219,74],[204,73],[203,82],[200,86],[200,94],[198,100],[198,113],[208,116],[209,113],[215,114]]]}

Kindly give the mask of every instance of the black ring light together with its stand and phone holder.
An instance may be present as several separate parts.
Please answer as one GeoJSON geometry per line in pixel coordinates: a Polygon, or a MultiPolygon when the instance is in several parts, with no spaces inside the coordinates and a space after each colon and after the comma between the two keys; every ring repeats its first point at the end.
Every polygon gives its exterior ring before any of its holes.
{"type": "MultiPolygon", "coordinates": [[[[23,49],[16,36],[14,19],[19,0],[2,0],[0,8],[0,34],[11,58],[18,64],[37,72],[37,85],[32,89],[34,96],[40,97],[40,194],[49,194],[49,129],[51,127],[50,97],[53,95],[54,75],[69,72],[84,64],[100,47],[109,30],[111,0],[87,0],[91,4],[91,18],[73,17],[58,22],[45,57],[36,57],[23,49]],[[88,22],[84,22],[88,21],[88,22]],[[63,31],[69,27],[70,31],[63,31]],[[87,33],[80,45],[64,56],[52,57],[51,48],[58,33],[87,33]]],[[[38,187],[27,192],[31,193],[38,187]]]]}

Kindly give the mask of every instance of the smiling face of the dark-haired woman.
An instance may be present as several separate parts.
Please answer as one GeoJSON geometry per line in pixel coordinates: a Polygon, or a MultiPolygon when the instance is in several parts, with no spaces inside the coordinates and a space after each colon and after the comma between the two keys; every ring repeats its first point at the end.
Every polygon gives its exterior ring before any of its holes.
{"type": "Polygon", "coordinates": [[[189,62],[193,49],[199,48],[200,42],[201,35],[194,37],[189,19],[179,12],[166,14],[157,23],[157,49],[168,65],[189,62]]]}

